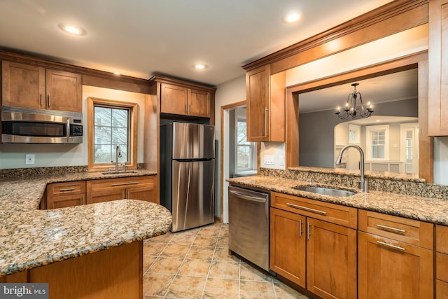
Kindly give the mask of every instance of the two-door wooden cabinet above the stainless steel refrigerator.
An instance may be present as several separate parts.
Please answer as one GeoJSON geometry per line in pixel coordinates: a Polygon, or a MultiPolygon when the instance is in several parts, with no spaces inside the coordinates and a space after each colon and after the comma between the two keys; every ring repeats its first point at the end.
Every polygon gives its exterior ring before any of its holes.
{"type": "Polygon", "coordinates": [[[179,85],[161,84],[160,112],[209,118],[210,92],[179,85]]]}

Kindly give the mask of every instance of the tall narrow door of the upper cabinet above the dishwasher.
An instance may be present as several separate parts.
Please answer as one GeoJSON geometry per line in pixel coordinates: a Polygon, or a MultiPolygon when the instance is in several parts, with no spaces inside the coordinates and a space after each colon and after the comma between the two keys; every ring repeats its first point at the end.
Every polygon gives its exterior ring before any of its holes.
{"type": "Polygon", "coordinates": [[[246,73],[247,141],[269,141],[269,65],[246,73]]]}

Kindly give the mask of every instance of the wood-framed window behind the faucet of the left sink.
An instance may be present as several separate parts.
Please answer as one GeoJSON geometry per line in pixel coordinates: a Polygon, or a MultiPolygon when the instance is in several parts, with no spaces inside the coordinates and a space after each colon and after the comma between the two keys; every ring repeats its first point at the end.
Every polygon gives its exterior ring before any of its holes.
{"type": "Polygon", "coordinates": [[[137,104],[90,97],[89,101],[89,170],[114,168],[116,148],[127,168],[137,168],[137,104]]]}

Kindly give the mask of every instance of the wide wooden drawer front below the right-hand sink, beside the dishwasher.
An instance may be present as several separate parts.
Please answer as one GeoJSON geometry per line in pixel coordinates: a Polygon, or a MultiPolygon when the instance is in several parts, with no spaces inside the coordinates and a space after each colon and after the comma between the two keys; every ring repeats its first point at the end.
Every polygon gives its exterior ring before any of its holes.
{"type": "Polygon", "coordinates": [[[349,228],[357,228],[358,213],[357,209],[353,207],[274,192],[271,193],[271,207],[344,225],[349,228]]]}

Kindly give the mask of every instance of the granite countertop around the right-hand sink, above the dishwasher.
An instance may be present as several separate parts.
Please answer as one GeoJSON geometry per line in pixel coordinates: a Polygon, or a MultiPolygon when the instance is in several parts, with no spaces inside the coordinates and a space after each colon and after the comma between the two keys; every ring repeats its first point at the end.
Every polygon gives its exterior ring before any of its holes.
{"type": "MultiPolygon", "coordinates": [[[[342,189],[353,190],[358,193],[349,197],[319,195],[292,188],[293,186],[309,186],[309,182],[283,179],[276,176],[246,176],[228,179],[228,181],[231,184],[238,184],[239,186],[261,188],[264,190],[289,195],[307,197],[313,200],[332,202],[348,207],[356,207],[358,209],[367,209],[370,211],[377,211],[380,213],[402,216],[405,218],[427,221],[430,223],[448,225],[448,200],[412,195],[400,195],[397,193],[386,193],[372,190],[370,190],[369,193],[361,193],[355,188],[346,187],[342,189]]],[[[339,188],[337,186],[324,185],[320,183],[312,183],[312,185],[339,188]]]]}

